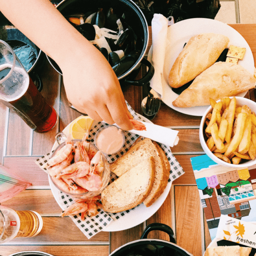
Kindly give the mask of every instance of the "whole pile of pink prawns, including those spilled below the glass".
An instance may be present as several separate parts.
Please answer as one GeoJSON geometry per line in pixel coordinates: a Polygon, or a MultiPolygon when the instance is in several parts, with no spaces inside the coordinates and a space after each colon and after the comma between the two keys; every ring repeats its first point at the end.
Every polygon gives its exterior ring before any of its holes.
{"type": "MultiPolygon", "coordinates": [[[[43,166],[48,170],[52,181],[64,192],[81,194],[88,191],[99,191],[102,188],[104,171],[102,154],[101,151],[90,147],[88,137],[89,131],[86,131],[83,139],[74,145],[68,136],[66,144],[43,166]]],[[[96,214],[96,206],[99,205],[99,202],[96,204],[95,198],[87,200],[92,201],[79,201],[72,207],[68,207],[67,215],[81,212],[91,216],[96,214]]]]}

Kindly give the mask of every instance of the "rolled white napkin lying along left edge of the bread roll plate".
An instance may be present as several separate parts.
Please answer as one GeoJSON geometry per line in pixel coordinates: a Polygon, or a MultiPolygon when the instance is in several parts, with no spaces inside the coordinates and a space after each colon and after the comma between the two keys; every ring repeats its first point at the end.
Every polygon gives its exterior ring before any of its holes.
{"type": "Polygon", "coordinates": [[[150,87],[153,88],[162,98],[163,96],[163,65],[166,50],[168,20],[162,14],[154,14],[151,21],[152,29],[152,64],[154,67],[154,76],[150,81],[150,87]]]}

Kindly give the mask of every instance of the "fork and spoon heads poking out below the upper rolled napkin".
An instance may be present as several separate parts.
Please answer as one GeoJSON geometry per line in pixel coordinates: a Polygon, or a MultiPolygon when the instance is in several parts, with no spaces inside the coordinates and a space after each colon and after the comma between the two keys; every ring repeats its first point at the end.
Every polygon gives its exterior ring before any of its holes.
{"type": "Polygon", "coordinates": [[[151,89],[148,93],[148,97],[145,97],[141,102],[143,113],[147,116],[155,116],[160,108],[160,97],[157,92],[151,89]]]}

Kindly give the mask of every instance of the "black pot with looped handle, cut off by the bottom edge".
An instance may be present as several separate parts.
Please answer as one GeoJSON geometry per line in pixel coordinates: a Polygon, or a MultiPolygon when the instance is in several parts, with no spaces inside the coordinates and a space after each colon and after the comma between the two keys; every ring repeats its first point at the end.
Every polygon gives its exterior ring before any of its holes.
{"type": "Polygon", "coordinates": [[[191,253],[175,244],[172,229],[160,223],[149,224],[139,240],[129,242],[116,250],[110,256],[192,256],[191,253]],[[161,239],[147,239],[152,230],[160,230],[169,235],[170,241],[161,239]]]}

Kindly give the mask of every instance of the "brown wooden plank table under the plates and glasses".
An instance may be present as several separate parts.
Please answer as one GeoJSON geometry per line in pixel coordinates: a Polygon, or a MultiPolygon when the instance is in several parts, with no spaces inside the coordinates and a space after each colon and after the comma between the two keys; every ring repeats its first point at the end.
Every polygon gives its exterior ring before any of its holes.
{"type": "MultiPolygon", "coordinates": [[[[230,26],[245,38],[256,60],[256,24],[230,26]]],[[[201,256],[211,239],[190,164],[191,157],[204,154],[198,136],[201,117],[182,114],[161,104],[159,113],[152,121],[179,131],[180,141],[172,148],[172,153],[185,174],[172,183],[166,201],[147,221],[124,231],[100,232],[88,240],[69,217],[59,216],[61,209],[49,188],[48,176],[34,163],[35,159],[51,150],[55,134],[79,116],[79,113],[68,107],[61,77],[48,63],[41,76],[44,83],[42,94],[58,112],[59,123],[52,131],[39,134],[33,132],[15,113],[0,105],[0,164],[32,183],[29,189],[2,205],[15,210],[39,212],[44,227],[34,238],[14,239],[0,245],[0,255],[39,250],[55,256],[108,256],[121,245],[140,239],[147,224],[159,222],[172,227],[178,245],[194,256],[201,256]]],[[[141,113],[142,88],[130,86],[122,89],[128,103],[137,113],[141,113]]],[[[255,92],[250,90],[246,97],[255,100],[255,92]]],[[[149,233],[148,238],[168,240],[165,233],[155,231],[149,233]]]]}

